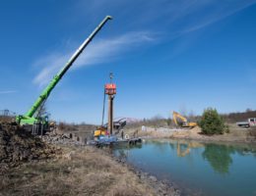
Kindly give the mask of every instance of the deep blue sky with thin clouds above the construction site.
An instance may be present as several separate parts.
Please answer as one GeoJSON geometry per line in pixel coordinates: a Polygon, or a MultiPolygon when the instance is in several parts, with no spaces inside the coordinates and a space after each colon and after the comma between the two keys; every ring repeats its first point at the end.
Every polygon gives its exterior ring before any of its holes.
{"type": "Polygon", "coordinates": [[[117,84],[115,117],[256,109],[256,0],[6,0],[0,5],[0,110],[25,114],[106,15],[113,20],[48,98],[53,119],[100,123],[110,72],[117,84]]]}

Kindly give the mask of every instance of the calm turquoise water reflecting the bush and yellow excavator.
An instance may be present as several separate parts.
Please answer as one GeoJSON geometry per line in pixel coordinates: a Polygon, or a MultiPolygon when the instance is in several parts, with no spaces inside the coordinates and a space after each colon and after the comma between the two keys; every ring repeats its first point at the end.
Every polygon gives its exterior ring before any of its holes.
{"type": "Polygon", "coordinates": [[[114,155],[175,182],[183,195],[256,195],[256,145],[151,140],[114,155]]]}

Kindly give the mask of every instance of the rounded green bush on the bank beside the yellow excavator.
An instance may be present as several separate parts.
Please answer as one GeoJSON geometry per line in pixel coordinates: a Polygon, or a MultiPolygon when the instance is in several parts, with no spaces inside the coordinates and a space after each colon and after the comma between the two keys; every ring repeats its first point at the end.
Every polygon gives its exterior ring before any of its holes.
{"type": "Polygon", "coordinates": [[[204,134],[223,134],[228,127],[216,109],[208,108],[204,111],[199,126],[204,134]]]}

